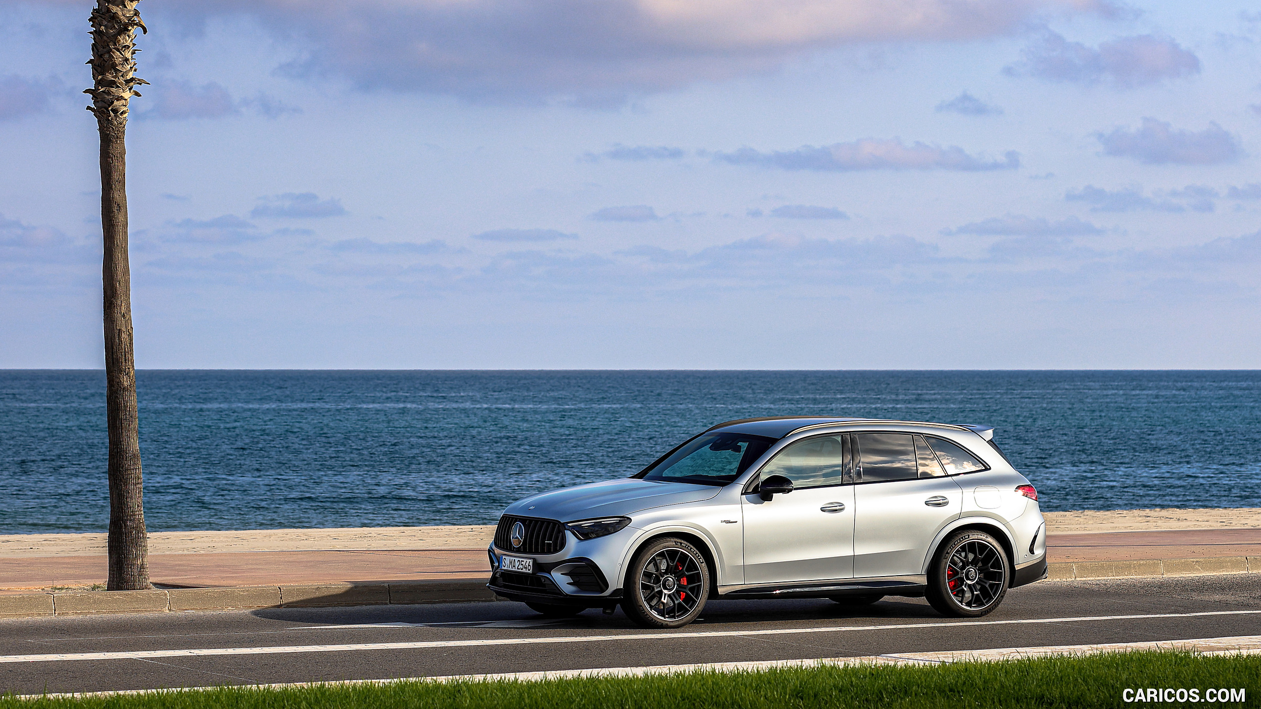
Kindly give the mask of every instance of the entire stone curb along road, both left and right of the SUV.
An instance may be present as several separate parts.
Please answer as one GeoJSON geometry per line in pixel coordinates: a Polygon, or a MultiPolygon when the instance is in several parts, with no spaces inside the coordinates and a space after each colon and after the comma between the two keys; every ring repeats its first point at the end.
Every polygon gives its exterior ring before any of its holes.
{"type": "MultiPolygon", "coordinates": [[[[1261,573],[1261,556],[1145,559],[1130,561],[1055,561],[1048,580],[1203,577],[1261,573]]],[[[247,611],[255,608],[332,608],[347,606],[410,606],[416,603],[478,603],[494,601],[485,579],[400,583],[337,583],[173,588],[168,590],[106,590],[21,593],[0,595],[0,618],[92,616],[103,613],[169,613],[247,611]]]]}

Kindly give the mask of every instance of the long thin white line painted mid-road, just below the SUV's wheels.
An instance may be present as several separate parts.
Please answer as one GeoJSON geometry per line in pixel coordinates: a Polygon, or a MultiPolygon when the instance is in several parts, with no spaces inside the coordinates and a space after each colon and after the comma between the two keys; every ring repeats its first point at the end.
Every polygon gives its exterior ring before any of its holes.
{"type": "Polygon", "coordinates": [[[1142,616],[1081,616],[1074,618],[1026,618],[1018,621],[956,621],[946,623],[905,623],[894,626],[825,626],[815,628],[773,628],[764,631],[702,631],[681,633],[627,633],[550,637],[503,637],[488,640],[433,640],[419,642],[358,642],[346,645],[286,645],[277,647],[190,647],[187,650],[135,650],[111,652],[66,652],[48,655],[0,655],[4,662],[66,662],[76,660],[144,660],[148,657],[206,657],[211,655],[285,655],[295,652],[348,652],[362,650],[419,650],[425,647],[484,647],[489,645],[541,645],[570,642],[609,642],[619,640],[692,640],[704,637],[755,637],[826,632],[899,631],[914,628],[1011,626],[1021,623],[1076,623],[1083,621],[1139,621],[1150,618],[1199,618],[1207,616],[1248,616],[1261,611],[1204,611],[1199,613],[1150,613],[1142,616]]]}

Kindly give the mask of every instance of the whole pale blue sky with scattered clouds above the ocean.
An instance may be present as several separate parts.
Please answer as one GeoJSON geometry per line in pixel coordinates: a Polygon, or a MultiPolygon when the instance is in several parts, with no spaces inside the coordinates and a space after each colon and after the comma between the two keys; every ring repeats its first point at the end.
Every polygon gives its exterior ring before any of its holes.
{"type": "MultiPolygon", "coordinates": [[[[0,4],[0,368],[102,366],[81,0],[0,4]]],[[[1257,368],[1261,11],[149,0],[141,368],[1257,368]]]]}

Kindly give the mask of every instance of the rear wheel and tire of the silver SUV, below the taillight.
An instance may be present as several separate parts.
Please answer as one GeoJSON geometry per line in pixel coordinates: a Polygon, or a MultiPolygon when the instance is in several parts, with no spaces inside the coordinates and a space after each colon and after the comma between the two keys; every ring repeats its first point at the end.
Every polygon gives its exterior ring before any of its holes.
{"type": "Polygon", "coordinates": [[[979,618],[1002,603],[1011,563],[994,536],[963,530],[946,539],[928,568],[928,603],[943,616],[979,618]]]}

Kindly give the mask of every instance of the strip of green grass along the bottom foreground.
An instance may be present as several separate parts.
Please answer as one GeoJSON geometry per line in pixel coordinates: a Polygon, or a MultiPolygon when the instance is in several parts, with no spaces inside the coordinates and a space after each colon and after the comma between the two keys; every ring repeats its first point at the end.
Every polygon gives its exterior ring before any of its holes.
{"type": "Polygon", "coordinates": [[[1199,657],[1129,652],[933,666],[863,666],[696,672],[649,677],[521,681],[406,681],[386,686],[311,686],[174,691],[108,698],[0,699],[0,708],[458,708],[458,709],[706,709],[1173,706],[1124,704],[1125,688],[1245,688],[1261,706],[1261,656],[1199,657]]]}

